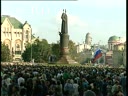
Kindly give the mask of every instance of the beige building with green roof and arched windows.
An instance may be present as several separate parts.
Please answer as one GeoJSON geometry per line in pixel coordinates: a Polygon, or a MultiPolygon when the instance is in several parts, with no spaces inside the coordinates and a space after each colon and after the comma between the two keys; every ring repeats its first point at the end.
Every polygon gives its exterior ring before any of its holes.
{"type": "Polygon", "coordinates": [[[14,60],[21,60],[27,42],[31,42],[32,28],[15,17],[1,16],[1,42],[7,45],[14,60]]]}

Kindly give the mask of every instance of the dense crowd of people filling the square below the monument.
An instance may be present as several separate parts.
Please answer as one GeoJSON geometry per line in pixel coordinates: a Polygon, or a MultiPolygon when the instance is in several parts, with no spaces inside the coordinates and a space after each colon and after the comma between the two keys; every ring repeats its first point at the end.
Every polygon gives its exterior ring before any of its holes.
{"type": "Polygon", "coordinates": [[[1,65],[1,96],[127,96],[126,69],[1,65]]]}

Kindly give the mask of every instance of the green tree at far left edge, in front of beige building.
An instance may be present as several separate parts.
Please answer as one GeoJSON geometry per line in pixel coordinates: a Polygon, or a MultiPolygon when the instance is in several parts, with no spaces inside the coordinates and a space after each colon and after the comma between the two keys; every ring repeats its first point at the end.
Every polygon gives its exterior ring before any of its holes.
{"type": "Polygon", "coordinates": [[[1,43],[1,61],[8,62],[12,60],[12,56],[10,54],[10,50],[8,46],[1,43]]]}

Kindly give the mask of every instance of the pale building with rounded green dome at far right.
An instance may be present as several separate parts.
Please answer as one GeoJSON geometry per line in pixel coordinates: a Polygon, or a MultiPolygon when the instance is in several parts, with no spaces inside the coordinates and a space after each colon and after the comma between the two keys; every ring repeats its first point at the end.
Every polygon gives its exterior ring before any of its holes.
{"type": "Polygon", "coordinates": [[[124,42],[125,38],[118,36],[111,36],[108,40],[108,52],[106,53],[106,63],[111,64],[114,67],[123,65],[124,55],[124,42]]]}

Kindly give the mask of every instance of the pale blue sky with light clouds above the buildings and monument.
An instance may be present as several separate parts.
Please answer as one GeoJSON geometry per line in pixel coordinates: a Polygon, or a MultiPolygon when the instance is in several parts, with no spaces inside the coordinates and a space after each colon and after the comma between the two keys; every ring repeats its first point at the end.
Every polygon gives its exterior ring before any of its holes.
{"type": "Polygon", "coordinates": [[[63,9],[68,16],[69,38],[75,43],[83,43],[88,32],[92,44],[106,45],[114,35],[126,38],[126,0],[1,1],[1,15],[27,21],[32,33],[48,43],[60,39],[63,9]]]}

